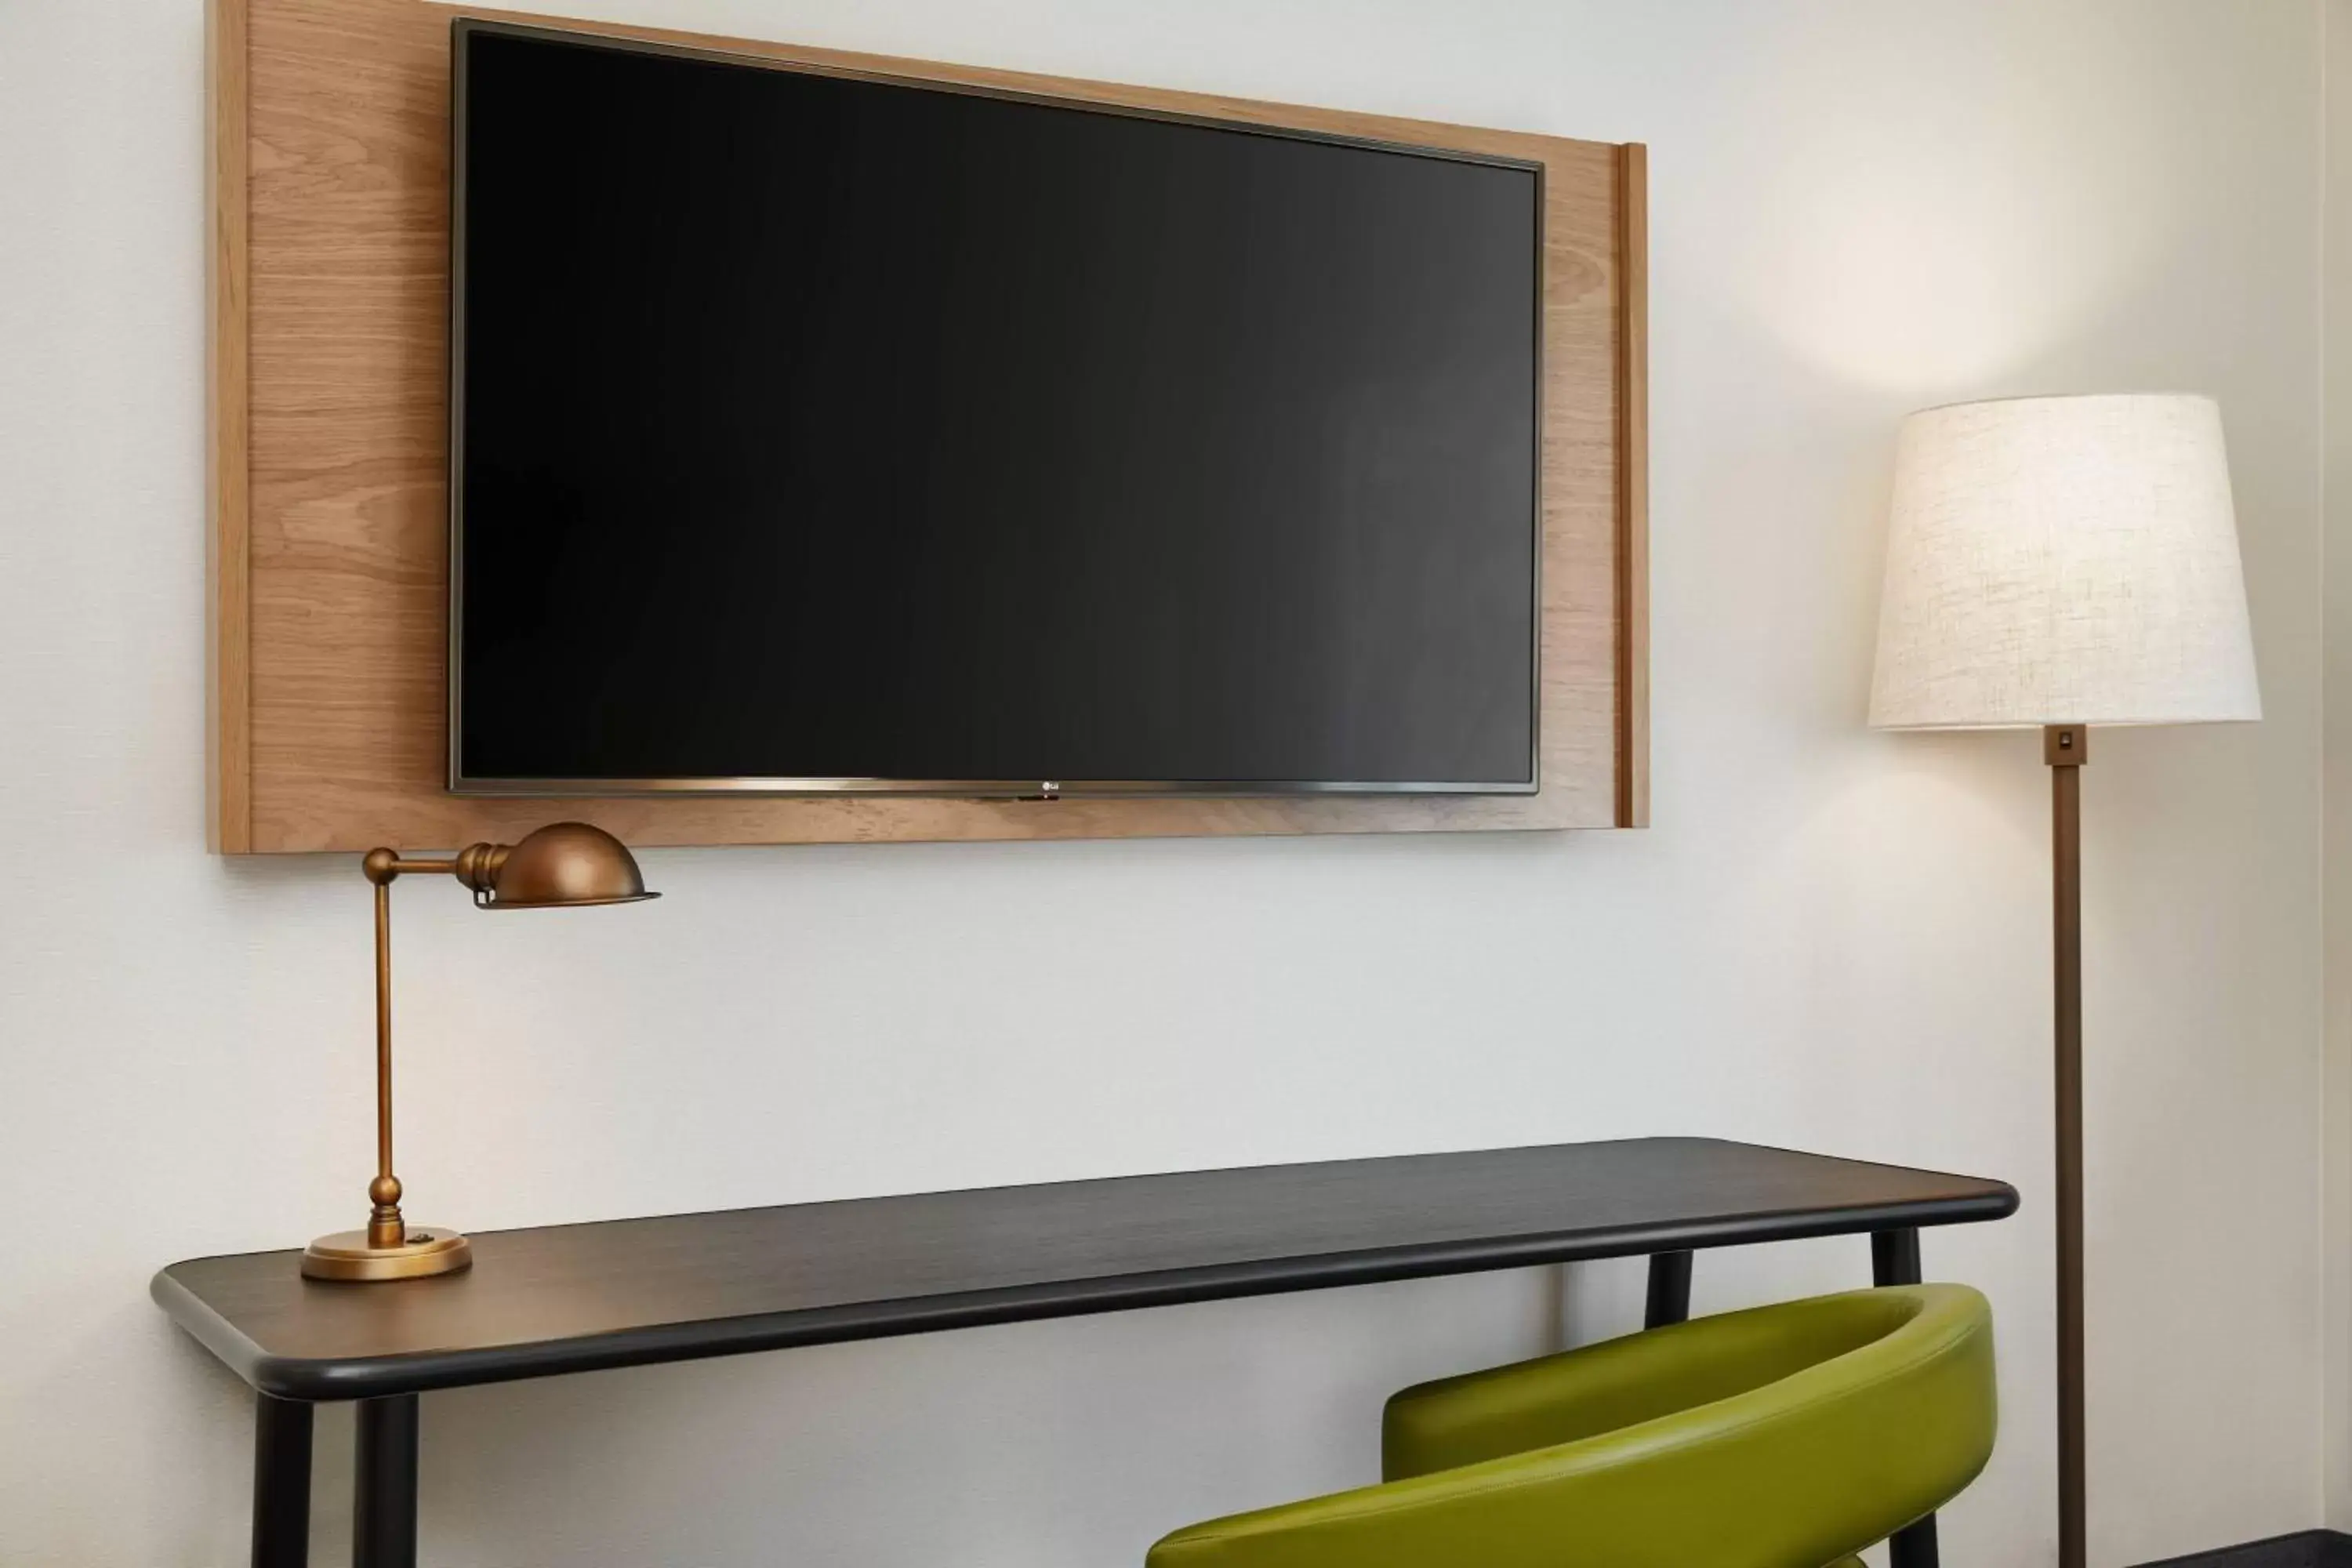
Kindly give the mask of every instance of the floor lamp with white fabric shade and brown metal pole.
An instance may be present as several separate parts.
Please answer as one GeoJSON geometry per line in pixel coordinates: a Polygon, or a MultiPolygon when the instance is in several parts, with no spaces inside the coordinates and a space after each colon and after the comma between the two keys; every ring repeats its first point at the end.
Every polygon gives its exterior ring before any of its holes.
{"type": "Polygon", "coordinates": [[[2042,729],[2058,1001],[2058,1561],[2084,1568],[2082,764],[2091,724],[2263,717],[2220,411],[2013,397],[1896,454],[1877,729],[2042,729]]]}

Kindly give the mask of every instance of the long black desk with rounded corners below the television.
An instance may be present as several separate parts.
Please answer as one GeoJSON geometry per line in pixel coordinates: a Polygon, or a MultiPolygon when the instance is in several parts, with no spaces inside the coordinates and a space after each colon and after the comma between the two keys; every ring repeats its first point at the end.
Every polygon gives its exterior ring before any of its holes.
{"type": "MultiPolygon", "coordinates": [[[[416,1394],[1228,1295],[1649,1255],[1649,1321],[1691,1251],[1999,1220],[2006,1182],[1703,1138],[1129,1175],[473,1237],[473,1269],[322,1284],[299,1251],[174,1262],[153,1295],[259,1392],[254,1568],[301,1568],[313,1401],[360,1399],[353,1561],[416,1561],[416,1394]]],[[[1933,1521],[1900,1568],[1936,1561],[1933,1521]]]]}

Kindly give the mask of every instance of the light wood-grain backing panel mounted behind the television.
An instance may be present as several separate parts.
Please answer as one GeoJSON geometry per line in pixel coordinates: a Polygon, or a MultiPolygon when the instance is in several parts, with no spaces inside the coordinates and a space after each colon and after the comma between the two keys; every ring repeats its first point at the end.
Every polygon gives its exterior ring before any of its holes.
{"type": "MultiPolygon", "coordinates": [[[[249,364],[216,360],[216,839],[223,851],[510,839],[576,816],[633,844],[1418,832],[1632,825],[1644,729],[1630,722],[1623,531],[1639,423],[1630,386],[1621,148],[976,66],[898,61],[656,28],[572,24],[760,54],[790,68],[974,82],[1446,146],[1545,165],[1543,790],[1534,797],[480,799],[445,790],[449,21],[423,0],[221,0],[245,7],[245,266],[216,256],[216,327],[247,315],[249,364]],[[238,287],[242,280],[249,284],[238,287]],[[249,411],[233,465],[238,411],[249,411]],[[249,496],[230,508],[245,477],[249,496]],[[238,552],[230,517],[245,522],[238,552]],[[230,614],[230,611],[238,614],[230,614]],[[240,618],[242,630],[240,630],[240,618]],[[238,679],[238,670],[245,670],[238,679]],[[235,724],[230,686],[249,712],[235,724]],[[238,790],[249,797],[238,813],[238,790]],[[242,832],[240,827],[242,818],[242,832]]],[[[223,59],[216,82],[235,75],[223,59]]],[[[228,162],[221,165],[223,176],[228,162]]],[[[235,202],[223,190],[216,212],[235,202]]],[[[226,223],[226,219],[216,219],[226,223]]]]}

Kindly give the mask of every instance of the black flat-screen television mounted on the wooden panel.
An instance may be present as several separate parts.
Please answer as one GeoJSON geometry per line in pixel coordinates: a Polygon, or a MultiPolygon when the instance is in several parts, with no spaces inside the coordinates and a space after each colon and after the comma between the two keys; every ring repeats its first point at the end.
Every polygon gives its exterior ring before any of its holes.
{"type": "Polygon", "coordinates": [[[1536,788],[1538,165],[454,52],[454,790],[1536,788]]]}

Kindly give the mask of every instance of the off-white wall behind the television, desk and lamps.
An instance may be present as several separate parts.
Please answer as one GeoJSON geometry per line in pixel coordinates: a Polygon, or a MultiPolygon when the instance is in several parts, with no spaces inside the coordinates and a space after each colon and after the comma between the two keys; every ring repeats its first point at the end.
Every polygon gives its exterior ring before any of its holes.
{"type": "MultiPolygon", "coordinates": [[[[590,0],[579,0],[581,9],[590,0]]],[[[604,0],[600,14],[1644,139],[1646,835],[652,853],[402,891],[414,1211],[489,1229],[1698,1131],[2011,1178],[1929,1237],[2009,1425],[1950,1561],[2046,1563],[2046,773],[1860,729],[1896,418],[2197,388],[2267,719],[2086,776],[2093,1556],[2319,1521],[2312,0],[604,0]]],[[[0,5],[0,1561],[242,1561],[240,1387],[146,1300],[367,1175],[355,865],[202,849],[198,0],[0,5]]],[[[2338,1225],[2340,1229],[2340,1225],[2338,1225]]],[[[1860,1284],[1710,1255],[1703,1309],[1860,1284]]],[[[1411,1378],[1637,1276],[1204,1305],[426,1401],[445,1566],[1103,1568],[1367,1479],[1411,1378]]],[[[320,1537],[346,1526],[325,1422],[320,1537]]],[[[325,1547],[322,1547],[325,1549],[325,1547]]],[[[329,1559],[320,1559],[329,1561],[329,1559]]]]}

